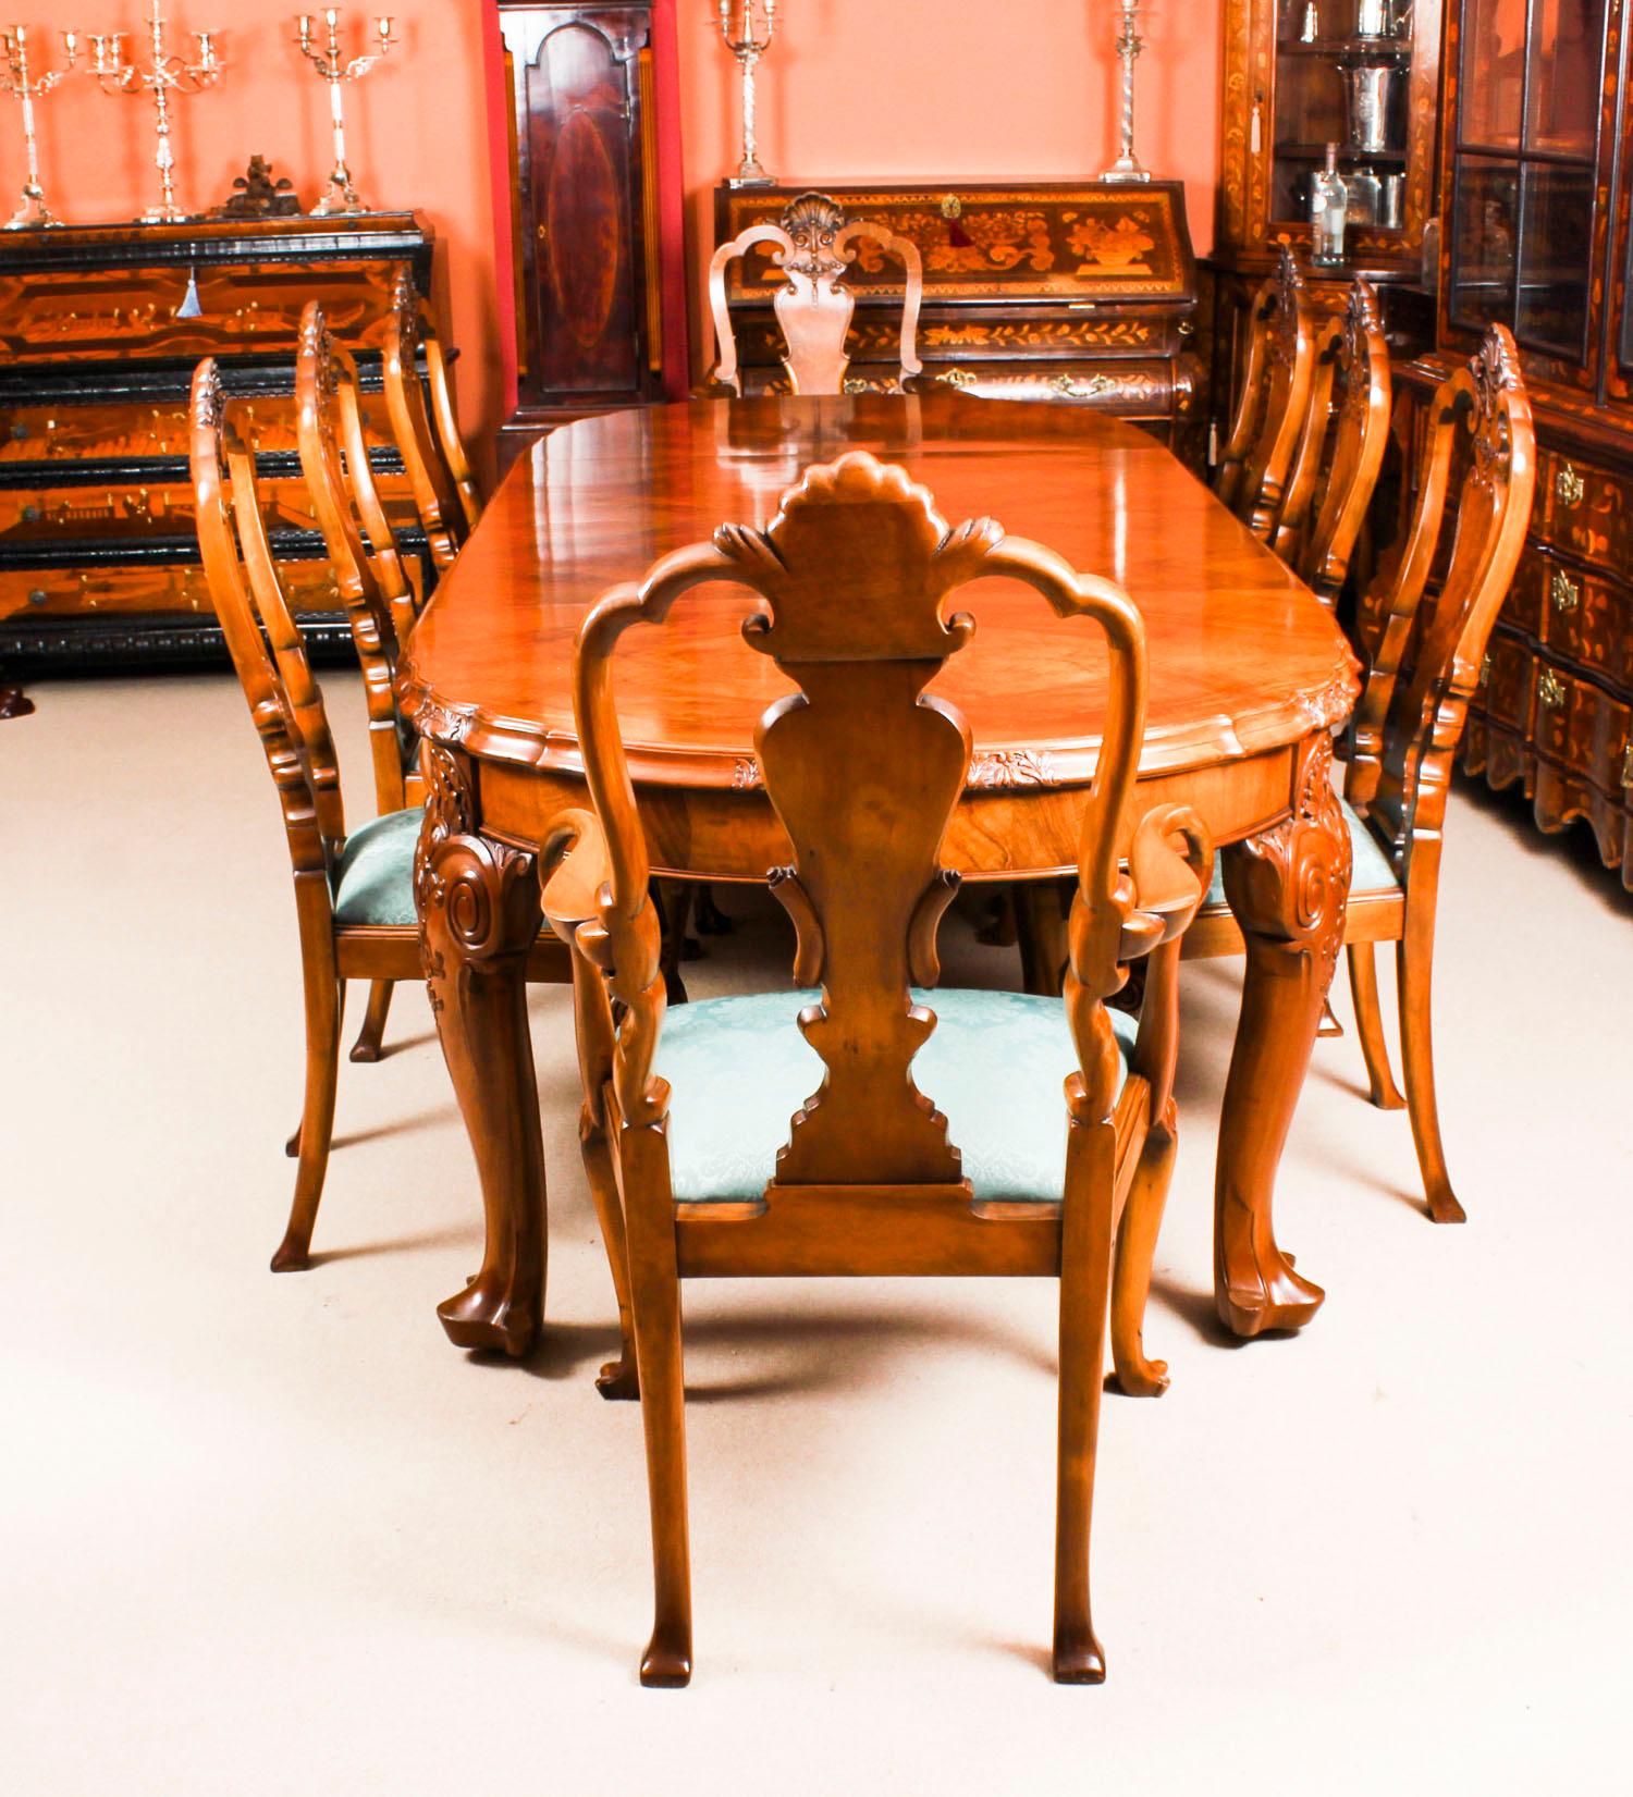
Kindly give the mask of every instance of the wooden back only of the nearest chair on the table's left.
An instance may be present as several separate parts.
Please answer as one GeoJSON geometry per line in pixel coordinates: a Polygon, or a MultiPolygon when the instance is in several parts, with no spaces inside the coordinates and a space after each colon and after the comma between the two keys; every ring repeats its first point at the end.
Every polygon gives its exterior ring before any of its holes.
{"type": "Polygon", "coordinates": [[[214,358],[194,370],[190,410],[205,580],[278,791],[293,868],[327,881],[347,834],[340,760],[271,557],[255,458],[226,415],[214,358]]]}

